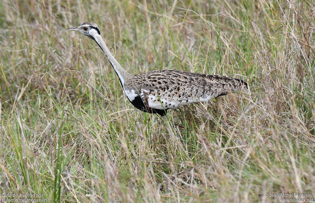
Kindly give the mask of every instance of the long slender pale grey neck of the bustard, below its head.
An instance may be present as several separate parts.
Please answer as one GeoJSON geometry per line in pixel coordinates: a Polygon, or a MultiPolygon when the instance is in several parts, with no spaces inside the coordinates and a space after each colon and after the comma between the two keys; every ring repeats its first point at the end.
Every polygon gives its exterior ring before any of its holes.
{"type": "Polygon", "coordinates": [[[109,51],[104,40],[102,39],[102,37],[100,35],[96,35],[94,37],[94,40],[100,46],[101,50],[104,51],[105,55],[107,56],[108,61],[112,64],[112,67],[114,68],[114,70],[115,70],[115,72],[119,78],[120,84],[123,87],[124,83],[126,81],[125,79],[127,76],[130,75],[130,73],[128,73],[125,69],[123,69],[123,67],[115,59],[115,57],[112,55],[112,52],[109,51]]]}

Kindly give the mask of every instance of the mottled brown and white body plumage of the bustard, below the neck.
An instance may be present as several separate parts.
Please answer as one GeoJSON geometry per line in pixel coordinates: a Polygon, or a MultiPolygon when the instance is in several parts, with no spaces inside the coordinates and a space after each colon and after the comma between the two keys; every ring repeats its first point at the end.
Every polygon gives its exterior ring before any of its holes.
{"type": "MultiPolygon", "coordinates": [[[[247,84],[237,78],[219,75],[198,74],[178,70],[158,70],[132,75],[125,80],[124,91],[129,100],[144,101],[140,110],[164,112],[179,106],[204,102],[211,98],[226,95],[232,90],[247,88],[247,84]],[[133,93],[132,90],[135,90],[133,93]],[[133,96],[141,99],[134,99],[133,96]],[[141,109],[142,107],[142,109],[141,109]],[[162,111],[159,111],[162,110],[162,111]]],[[[134,104],[136,107],[137,105],[134,104]]],[[[137,107],[138,108],[138,107],[137,107]]],[[[165,113],[165,112],[164,112],[165,113]]]]}

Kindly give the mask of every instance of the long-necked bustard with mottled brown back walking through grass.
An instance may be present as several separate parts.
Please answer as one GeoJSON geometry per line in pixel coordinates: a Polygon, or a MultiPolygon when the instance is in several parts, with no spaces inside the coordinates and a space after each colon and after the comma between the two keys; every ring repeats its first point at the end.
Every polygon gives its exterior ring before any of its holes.
{"type": "Polygon", "coordinates": [[[128,100],[135,108],[147,113],[166,116],[169,109],[248,89],[248,84],[243,80],[222,75],[169,69],[131,74],[107,48],[97,24],[85,22],[66,30],[77,31],[96,42],[116,72],[128,100]]]}

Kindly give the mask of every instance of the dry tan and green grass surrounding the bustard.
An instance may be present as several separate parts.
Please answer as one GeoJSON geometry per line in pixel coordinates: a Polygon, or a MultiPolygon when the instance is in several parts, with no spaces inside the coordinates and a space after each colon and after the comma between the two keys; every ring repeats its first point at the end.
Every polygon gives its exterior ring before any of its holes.
{"type": "MultiPolygon", "coordinates": [[[[49,202],[277,202],[315,194],[314,1],[0,2],[0,192],[49,202]],[[235,76],[249,93],[135,110],[131,73],[235,76]]],[[[314,197],[314,196],[313,196],[314,197]]]]}

